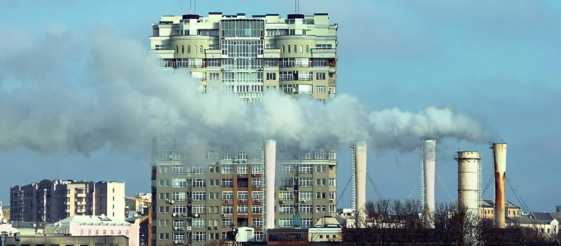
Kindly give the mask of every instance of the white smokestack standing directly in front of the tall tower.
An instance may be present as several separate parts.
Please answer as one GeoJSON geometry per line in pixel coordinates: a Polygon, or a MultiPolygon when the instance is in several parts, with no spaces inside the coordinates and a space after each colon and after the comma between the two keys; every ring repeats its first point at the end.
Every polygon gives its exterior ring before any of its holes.
{"type": "Polygon", "coordinates": [[[275,228],[275,165],[277,160],[277,141],[265,140],[265,231],[275,228]]]}

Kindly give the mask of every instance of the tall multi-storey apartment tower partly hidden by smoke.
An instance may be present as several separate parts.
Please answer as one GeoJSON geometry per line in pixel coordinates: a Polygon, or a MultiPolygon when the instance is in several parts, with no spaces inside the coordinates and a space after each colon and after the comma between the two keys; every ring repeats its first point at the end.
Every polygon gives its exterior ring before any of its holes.
{"type": "MultiPolygon", "coordinates": [[[[165,71],[198,80],[200,94],[231,92],[248,104],[259,103],[264,90],[323,102],[335,94],[337,25],[327,14],[211,12],[163,16],[152,27],[150,52],[165,71]]],[[[262,240],[262,154],[217,146],[201,155],[207,160],[188,160],[174,149],[173,137],[155,138],[154,243],[205,245],[226,238],[232,226],[251,226],[262,240]]],[[[276,228],[291,228],[296,213],[303,227],[335,213],[335,155],[335,150],[295,154],[278,145],[276,228]]]]}

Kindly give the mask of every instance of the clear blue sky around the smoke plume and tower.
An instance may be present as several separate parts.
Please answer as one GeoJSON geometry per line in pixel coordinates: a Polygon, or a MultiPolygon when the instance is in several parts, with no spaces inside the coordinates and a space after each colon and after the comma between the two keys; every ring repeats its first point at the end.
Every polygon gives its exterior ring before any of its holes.
{"type": "MultiPolygon", "coordinates": [[[[189,12],[189,1],[158,3],[0,0],[0,21],[4,28],[24,33],[63,28],[85,36],[91,27],[107,27],[148,46],[151,22],[189,12]]],[[[206,0],[197,2],[196,11],[286,16],[295,10],[293,1],[206,0]]],[[[327,12],[339,24],[339,93],[355,94],[371,109],[396,106],[415,112],[451,105],[481,118],[499,136],[489,141],[508,143],[507,177],[532,211],[561,205],[561,165],[555,158],[561,148],[559,11],[561,2],[553,0],[300,1],[301,13],[327,12]]],[[[0,40],[4,48],[17,48],[18,42],[4,42],[0,40]]],[[[440,142],[437,201],[450,201],[448,192],[457,197],[453,155],[458,148],[480,151],[484,183],[490,178],[488,145],[440,142]]],[[[340,150],[338,161],[341,192],[350,178],[347,148],[340,150]]],[[[149,164],[142,156],[109,150],[89,157],[0,150],[0,163],[4,202],[10,186],[43,178],[119,180],[130,194],[150,187],[149,164]]],[[[419,154],[377,153],[370,156],[368,170],[382,196],[407,198],[419,176],[419,154]]],[[[412,197],[418,196],[417,187],[412,197]]],[[[367,197],[376,198],[370,186],[367,197]]],[[[493,198],[492,187],[484,197],[493,198]]],[[[342,202],[349,198],[343,196],[342,202]]],[[[507,199],[519,205],[510,189],[507,199]]]]}

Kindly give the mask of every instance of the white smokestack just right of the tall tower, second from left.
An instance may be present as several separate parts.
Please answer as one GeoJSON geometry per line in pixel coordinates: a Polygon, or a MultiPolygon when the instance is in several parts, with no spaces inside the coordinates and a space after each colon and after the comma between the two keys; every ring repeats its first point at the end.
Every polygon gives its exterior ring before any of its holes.
{"type": "MultiPolygon", "coordinates": [[[[355,141],[355,187],[356,187],[356,212],[362,222],[366,219],[364,206],[366,204],[366,141],[355,141]]],[[[357,221],[357,227],[362,224],[357,221]]]]}

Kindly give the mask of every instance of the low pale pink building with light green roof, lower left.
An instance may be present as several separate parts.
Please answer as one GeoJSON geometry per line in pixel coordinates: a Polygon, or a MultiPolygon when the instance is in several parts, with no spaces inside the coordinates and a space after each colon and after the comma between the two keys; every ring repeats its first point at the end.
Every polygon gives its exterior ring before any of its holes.
{"type": "Polygon", "coordinates": [[[72,236],[125,235],[128,245],[139,246],[138,224],[131,224],[114,217],[74,215],[45,226],[45,233],[64,233],[72,236]]]}

